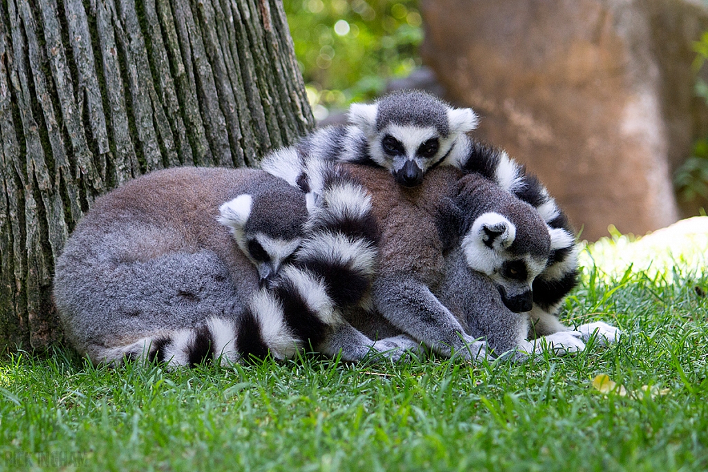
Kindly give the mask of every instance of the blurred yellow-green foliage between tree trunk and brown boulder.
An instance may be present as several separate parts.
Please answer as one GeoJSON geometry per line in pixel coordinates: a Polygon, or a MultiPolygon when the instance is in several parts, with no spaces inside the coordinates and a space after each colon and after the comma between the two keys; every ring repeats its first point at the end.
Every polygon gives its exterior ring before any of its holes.
{"type": "Polygon", "coordinates": [[[284,0],[315,116],[370,100],[421,64],[417,0],[284,0]]]}

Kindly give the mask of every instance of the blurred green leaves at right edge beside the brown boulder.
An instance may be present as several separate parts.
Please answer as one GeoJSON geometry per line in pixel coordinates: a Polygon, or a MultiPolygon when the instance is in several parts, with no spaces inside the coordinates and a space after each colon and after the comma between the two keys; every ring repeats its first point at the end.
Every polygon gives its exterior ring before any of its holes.
{"type": "MultiPolygon", "coordinates": [[[[697,73],[708,59],[708,32],[693,44],[693,50],[697,53],[693,62],[697,73]]],[[[704,80],[696,79],[695,93],[708,103],[708,84],[704,80]]],[[[673,182],[685,202],[708,199],[708,138],[694,143],[691,156],[676,169],[673,182]]]]}

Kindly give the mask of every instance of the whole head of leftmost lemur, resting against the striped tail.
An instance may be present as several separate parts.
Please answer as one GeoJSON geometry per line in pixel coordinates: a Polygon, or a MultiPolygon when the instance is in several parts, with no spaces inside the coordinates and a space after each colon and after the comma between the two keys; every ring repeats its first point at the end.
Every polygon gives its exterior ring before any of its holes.
{"type": "Polygon", "coordinates": [[[261,286],[292,260],[307,221],[304,193],[284,183],[277,190],[243,194],[219,207],[219,223],[228,226],[246,258],[258,270],[261,286]]]}

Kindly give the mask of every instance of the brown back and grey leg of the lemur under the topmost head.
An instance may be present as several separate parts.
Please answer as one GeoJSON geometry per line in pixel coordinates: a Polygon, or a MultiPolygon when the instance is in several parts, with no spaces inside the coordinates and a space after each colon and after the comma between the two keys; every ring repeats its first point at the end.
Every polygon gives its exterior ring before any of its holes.
{"type": "Polygon", "coordinates": [[[349,321],[372,338],[405,334],[443,355],[484,355],[484,343],[464,333],[431,292],[445,270],[435,211],[438,199],[455,191],[458,171],[440,168],[421,187],[405,189],[392,185],[392,176],[380,169],[348,166],[348,170],[372,193],[373,212],[382,230],[372,301],[384,320],[367,322],[358,315],[349,321]]]}

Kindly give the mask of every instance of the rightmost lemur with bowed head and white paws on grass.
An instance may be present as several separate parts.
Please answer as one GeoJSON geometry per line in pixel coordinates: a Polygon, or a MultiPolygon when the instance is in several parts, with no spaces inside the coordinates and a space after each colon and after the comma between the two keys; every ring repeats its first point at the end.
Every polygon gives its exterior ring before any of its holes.
{"type": "Polygon", "coordinates": [[[464,320],[468,333],[484,335],[496,352],[513,347],[527,352],[539,349],[540,344],[526,338],[543,336],[556,349],[574,351],[583,350],[582,340],[595,331],[600,343],[614,342],[619,336],[617,328],[602,322],[571,331],[554,316],[553,323],[542,325],[533,310],[539,297],[537,282],[554,253],[566,247],[566,233],[550,228],[532,205],[491,180],[476,173],[464,175],[458,182],[457,196],[447,200],[438,213],[438,229],[446,253],[440,297],[464,320]],[[485,291],[489,284],[480,282],[480,275],[489,277],[496,294],[485,291]],[[470,289],[455,289],[456,285],[469,285],[470,289]],[[496,297],[521,316],[489,310],[489,304],[498,305],[496,297]]]}

